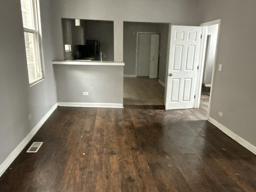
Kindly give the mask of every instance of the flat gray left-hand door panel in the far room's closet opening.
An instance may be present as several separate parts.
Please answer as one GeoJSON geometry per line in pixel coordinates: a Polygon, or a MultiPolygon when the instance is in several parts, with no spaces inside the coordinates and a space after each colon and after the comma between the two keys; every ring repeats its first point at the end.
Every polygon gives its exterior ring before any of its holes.
{"type": "Polygon", "coordinates": [[[151,34],[138,34],[137,76],[149,76],[151,34]]]}

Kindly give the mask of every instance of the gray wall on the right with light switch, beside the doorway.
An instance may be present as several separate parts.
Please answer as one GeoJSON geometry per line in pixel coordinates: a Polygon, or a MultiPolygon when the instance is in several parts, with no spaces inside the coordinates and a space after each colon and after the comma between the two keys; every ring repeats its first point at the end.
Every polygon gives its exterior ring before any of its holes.
{"type": "Polygon", "coordinates": [[[217,64],[222,71],[216,68],[210,117],[256,146],[256,1],[208,0],[201,5],[201,22],[221,19],[217,64]]]}

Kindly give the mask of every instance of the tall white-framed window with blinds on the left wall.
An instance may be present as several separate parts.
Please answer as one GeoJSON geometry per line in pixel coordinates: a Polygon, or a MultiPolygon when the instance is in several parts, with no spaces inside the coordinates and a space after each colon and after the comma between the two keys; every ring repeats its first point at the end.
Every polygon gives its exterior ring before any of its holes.
{"type": "Polygon", "coordinates": [[[43,79],[42,53],[40,49],[39,9],[37,0],[20,0],[29,84],[43,79]]]}

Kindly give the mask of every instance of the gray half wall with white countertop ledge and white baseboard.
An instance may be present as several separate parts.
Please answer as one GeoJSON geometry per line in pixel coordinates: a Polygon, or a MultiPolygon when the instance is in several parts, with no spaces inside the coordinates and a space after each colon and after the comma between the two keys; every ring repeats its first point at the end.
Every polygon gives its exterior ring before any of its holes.
{"type": "Polygon", "coordinates": [[[54,60],[59,106],[123,108],[124,62],[54,60]]]}

